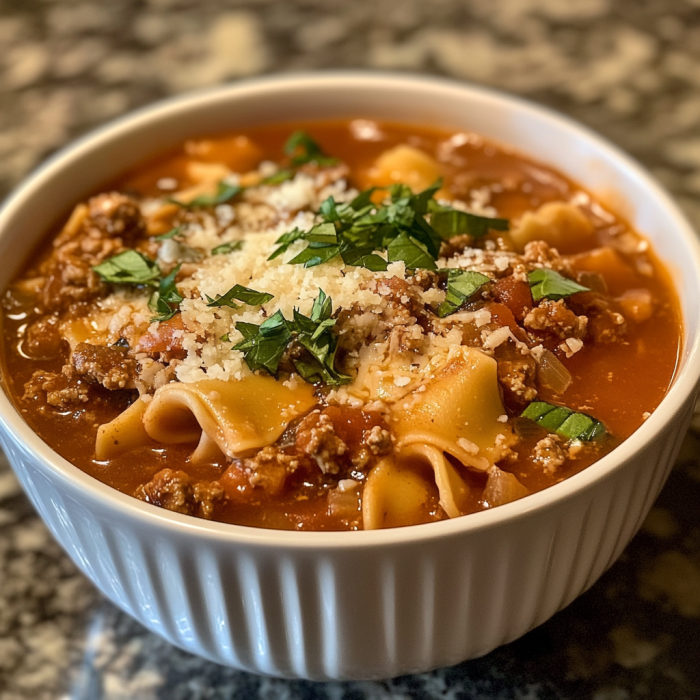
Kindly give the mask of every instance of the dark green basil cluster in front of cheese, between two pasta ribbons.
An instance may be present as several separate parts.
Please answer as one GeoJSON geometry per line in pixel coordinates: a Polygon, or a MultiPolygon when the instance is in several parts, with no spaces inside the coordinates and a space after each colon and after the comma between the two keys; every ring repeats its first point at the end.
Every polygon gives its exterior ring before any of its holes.
{"type": "Polygon", "coordinates": [[[287,321],[278,311],[260,326],[237,323],[236,329],[243,335],[243,340],[234,346],[234,350],[243,353],[251,370],[265,369],[276,375],[284,351],[294,341],[306,350],[301,357],[292,359],[294,367],[305,381],[313,384],[345,384],[350,381],[350,377],[335,369],[338,339],[331,332],[335,325],[332,314],[333,302],[319,289],[310,316],[304,316],[295,310],[293,320],[287,321]]]}

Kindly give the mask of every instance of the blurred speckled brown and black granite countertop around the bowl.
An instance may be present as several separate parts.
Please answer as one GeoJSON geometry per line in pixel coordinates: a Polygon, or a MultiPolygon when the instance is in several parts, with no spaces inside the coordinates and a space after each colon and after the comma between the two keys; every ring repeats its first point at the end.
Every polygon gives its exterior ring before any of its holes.
{"type": "MultiPolygon", "coordinates": [[[[641,160],[700,224],[698,0],[2,0],[0,194],[57,147],[241,76],[370,67],[550,105],[641,160]]],[[[700,416],[642,531],[549,622],[386,682],[289,682],[202,661],[106,602],[0,459],[0,700],[700,697],[700,416]]]]}

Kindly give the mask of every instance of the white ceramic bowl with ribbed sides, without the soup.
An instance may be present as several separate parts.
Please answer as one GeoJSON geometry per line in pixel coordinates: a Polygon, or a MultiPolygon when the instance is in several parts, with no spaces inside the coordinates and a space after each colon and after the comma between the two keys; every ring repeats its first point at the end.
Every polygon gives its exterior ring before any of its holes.
{"type": "Polygon", "coordinates": [[[59,153],[0,213],[0,288],[75,202],[149,156],[193,135],[338,117],[473,130],[626,203],[625,213],[672,269],[685,318],[675,382],[632,437],[563,483],[491,511],[338,533],[211,523],[125,496],[59,457],[4,394],[0,441],[68,554],[150,630],[259,673],[381,678],[454,664],[519,637],[621,553],[668,475],[693,408],[700,255],[690,226],[644,170],[566,118],[454,82],[322,73],[161,102],[59,153]]]}

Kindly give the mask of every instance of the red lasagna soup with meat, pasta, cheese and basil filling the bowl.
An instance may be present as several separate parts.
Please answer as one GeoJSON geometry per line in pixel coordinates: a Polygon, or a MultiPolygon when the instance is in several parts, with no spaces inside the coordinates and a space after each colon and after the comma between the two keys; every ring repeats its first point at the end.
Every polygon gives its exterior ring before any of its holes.
{"type": "Polygon", "coordinates": [[[649,243],[478,135],[365,120],[188,141],[78,203],[3,300],[4,384],[93,477],[357,530],[586,468],[668,389],[649,243]]]}

